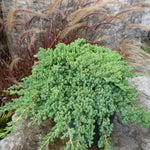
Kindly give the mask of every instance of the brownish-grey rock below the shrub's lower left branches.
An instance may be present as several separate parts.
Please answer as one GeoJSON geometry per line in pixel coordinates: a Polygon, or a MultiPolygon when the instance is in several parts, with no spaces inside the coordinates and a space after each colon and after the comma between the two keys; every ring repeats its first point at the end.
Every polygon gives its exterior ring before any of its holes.
{"type": "MultiPolygon", "coordinates": [[[[16,118],[13,116],[13,121],[16,118]]],[[[12,135],[0,141],[0,150],[38,150],[42,146],[43,137],[54,126],[50,120],[45,120],[40,126],[34,125],[28,127],[29,120],[23,121],[21,128],[16,126],[16,130],[12,135]]],[[[51,142],[43,150],[63,150],[65,141],[59,138],[51,142]]]]}

